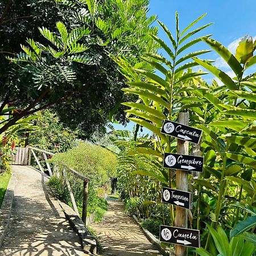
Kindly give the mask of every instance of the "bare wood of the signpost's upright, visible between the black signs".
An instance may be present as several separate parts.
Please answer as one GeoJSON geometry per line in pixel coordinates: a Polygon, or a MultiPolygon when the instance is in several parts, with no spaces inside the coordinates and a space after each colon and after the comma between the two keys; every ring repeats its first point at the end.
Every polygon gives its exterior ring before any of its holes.
{"type": "MultiPolygon", "coordinates": [[[[188,125],[188,113],[179,113],[178,122],[188,125]]],[[[188,142],[182,139],[177,140],[177,154],[188,155],[188,142]]],[[[182,191],[188,191],[188,172],[177,170],[176,187],[182,191]]],[[[188,228],[188,211],[185,208],[176,207],[175,226],[188,228]]],[[[188,249],[186,246],[176,245],[176,256],[187,256],[188,249]]]]}

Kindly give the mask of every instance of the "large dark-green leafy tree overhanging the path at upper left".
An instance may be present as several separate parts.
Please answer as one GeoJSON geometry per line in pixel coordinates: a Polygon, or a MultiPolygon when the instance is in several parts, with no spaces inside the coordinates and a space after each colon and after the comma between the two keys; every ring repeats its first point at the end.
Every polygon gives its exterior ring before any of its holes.
{"type": "Polygon", "coordinates": [[[29,51],[37,55],[34,45],[41,47],[42,53],[36,60],[37,64],[30,57],[26,63],[20,62],[25,55],[24,52],[19,53],[16,58],[19,65],[16,66],[5,56],[0,56],[0,112],[6,104],[19,109],[5,121],[0,133],[19,118],[46,108],[55,109],[67,125],[75,128],[79,125],[85,136],[104,125],[111,110],[111,114],[117,113],[118,121],[125,123],[126,117],[121,111],[124,107],[117,112],[119,102],[134,97],[123,95],[121,89],[126,86],[125,77],[118,72],[117,64],[109,55],[124,55],[135,62],[147,47],[152,52],[156,51],[156,44],[148,36],[148,33],[156,34],[156,28],[151,27],[155,17],[146,18],[147,6],[146,0],[7,0],[0,3],[1,52],[7,53],[9,59],[15,59],[14,53],[19,51],[19,44],[26,44],[23,46],[26,56],[30,55],[29,51]],[[56,24],[59,24],[57,31],[56,24]],[[54,54],[59,51],[59,43],[54,40],[64,43],[65,35],[72,31],[78,33],[73,32],[78,36],[75,51],[84,55],[82,61],[70,59],[67,52],[59,56],[54,54]],[[52,32],[52,38],[47,36],[48,32],[52,32]],[[30,46],[27,46],[26,38],[33,39],[27,40],[30,46]],[[84,48],[79,48],[81,44],[84,48]],[[64,70],[70,71],[71,76],[67,77],[64,70]]]}

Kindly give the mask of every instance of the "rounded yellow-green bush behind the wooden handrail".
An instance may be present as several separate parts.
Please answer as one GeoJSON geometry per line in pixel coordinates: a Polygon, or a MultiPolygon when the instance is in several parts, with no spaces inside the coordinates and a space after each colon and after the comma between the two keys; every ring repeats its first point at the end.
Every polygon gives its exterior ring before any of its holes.
{"type": "Polygon", "coordinates": [[[117,157],[101,146],[80,141],[77,147],[53,156],[51,162],[64,163],[90,178],[96,185],[104,185],[114,177],[117,157]]]}

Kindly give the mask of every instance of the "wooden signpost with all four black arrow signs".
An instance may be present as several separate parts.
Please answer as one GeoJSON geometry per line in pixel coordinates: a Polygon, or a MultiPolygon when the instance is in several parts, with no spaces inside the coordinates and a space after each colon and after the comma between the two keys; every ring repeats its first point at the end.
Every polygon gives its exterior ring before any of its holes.
{"type": "Polygon", "coordinates": [[[188,113],[179,113],[178,122],[163,121],[161,133],[177,138],[177,154],[164,153],[164,168],[176,169],[176,188],[163,188],[163,203],[176,205],[175,227],[160,226],[160,241],[176,244],[176,256],[187,256],[187,246],[200,247],[200,230],[188,229],[188,171],[203,172],[204,158],[188,155],[188,142],[199,144],[202,130],[188,126],[188,113]],[[169,195],[170,194],[170,195],[169,195]],[[176,200],[178,199],[178,200],[176,200]]]}

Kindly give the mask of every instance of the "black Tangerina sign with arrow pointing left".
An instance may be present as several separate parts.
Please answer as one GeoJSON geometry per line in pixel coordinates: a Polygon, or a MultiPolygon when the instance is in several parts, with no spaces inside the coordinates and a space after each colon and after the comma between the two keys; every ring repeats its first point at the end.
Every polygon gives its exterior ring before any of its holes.
{"type": "Polygon", "coordinates": [[[190,192],[166,187],[162,189],[162,203],[173,204],[186,209],[192,209],[192,196],[193,194],[190,192]]]}

